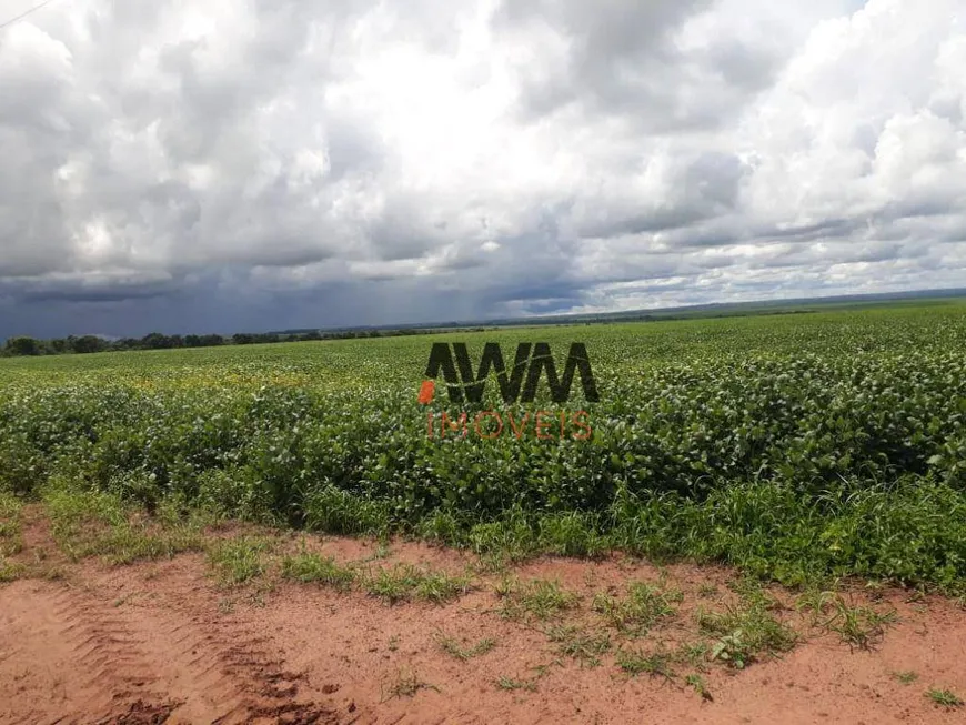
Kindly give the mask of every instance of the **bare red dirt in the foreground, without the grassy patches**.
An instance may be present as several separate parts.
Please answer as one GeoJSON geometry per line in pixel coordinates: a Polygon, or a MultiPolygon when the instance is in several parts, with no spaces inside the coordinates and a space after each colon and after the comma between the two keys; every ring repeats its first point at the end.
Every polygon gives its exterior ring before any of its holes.
{"type": "MultiPolygon", "coordinates": [[[[393,543],[390,561],[462,571],[467,558],[393,543]]],[[[326,538],[336,558],[373,544],[326,538]]],[[[686,591],[723,586],[718,568],[667,567],[686,591]]],[[[559,578],[585,595],[656,580],[646,564],[542,560],[521,577],[559,578]]],[[[495,578],[493,581],[496,581],[495,578]]],[[[955,602],[884,603],[898,622],[873,651],[816,635],[781,659],[742,672],[720,665],[705,679],[713,699],[681,682],[628,677],[612,658],[582,667],[546,636],[494,611],[486,586],[446,605],[389,605],[360,592],[280,582],[261,595],[230,596],[203,556],[110,567],[69,566],[60,581],[0,586],[0,723],[962,723],[925,692],[966,693],[966,612],[955,602]],[[469,661],[440,634],[494,648],[469,661]],[[534,679],[533,667],[550,665],[534,679]],[[895,673],[915,671],[902,684],[895,673]],[[394,692],[412,675],[414,693],[394,692]],[[532,679],[506,691],[501,677],[532,679]]],[[[881,602],[879,604],[882,604],[881,602]]]]}

